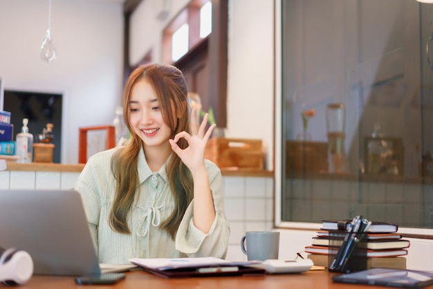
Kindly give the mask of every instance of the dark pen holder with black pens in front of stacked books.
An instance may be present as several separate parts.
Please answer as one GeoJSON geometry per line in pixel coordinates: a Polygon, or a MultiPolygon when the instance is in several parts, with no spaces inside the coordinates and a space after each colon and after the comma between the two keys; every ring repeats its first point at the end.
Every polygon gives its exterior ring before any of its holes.
{"type": "Polygon", "coordinates": [[[329,233],[329,271],[349,273],[367,269],[365,233],[329,233]]]}

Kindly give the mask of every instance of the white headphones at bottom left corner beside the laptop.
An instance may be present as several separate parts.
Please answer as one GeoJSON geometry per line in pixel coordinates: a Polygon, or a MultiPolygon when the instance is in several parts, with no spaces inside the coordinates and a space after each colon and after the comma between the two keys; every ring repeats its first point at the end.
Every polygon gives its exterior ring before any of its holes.
{"type": "Polygon", "coordinates": [[[33,259],[16,248],[0,248],[0,281],[5,285],[22,285],[33,275],[33,259]]]}

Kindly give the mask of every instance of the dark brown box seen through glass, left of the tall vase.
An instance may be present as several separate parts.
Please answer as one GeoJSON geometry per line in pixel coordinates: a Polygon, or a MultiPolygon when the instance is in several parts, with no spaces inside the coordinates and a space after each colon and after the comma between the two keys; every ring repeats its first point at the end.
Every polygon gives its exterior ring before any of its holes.
{"type": "Polygon", "coordinates": [[[287,172],[327,172],[328,142],[287,140],[287,172]]]}

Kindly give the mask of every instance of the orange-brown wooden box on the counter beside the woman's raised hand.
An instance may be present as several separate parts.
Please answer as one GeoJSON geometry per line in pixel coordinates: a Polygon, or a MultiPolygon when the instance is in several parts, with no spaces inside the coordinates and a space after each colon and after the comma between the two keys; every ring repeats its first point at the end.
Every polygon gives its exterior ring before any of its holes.
{"type": "Polygon", "coordinates": [[[205,158],[220,169],[262,170],[261,149],[261,140],[214,137],[206,144],[205,158]]]}

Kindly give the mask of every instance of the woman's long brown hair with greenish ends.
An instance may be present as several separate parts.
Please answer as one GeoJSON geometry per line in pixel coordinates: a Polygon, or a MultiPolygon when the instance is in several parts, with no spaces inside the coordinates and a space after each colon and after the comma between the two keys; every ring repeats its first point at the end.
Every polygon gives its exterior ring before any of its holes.
{"type": "MultiPolygon", "coordinates": [[[[131,138],[125,147],[119,149],[111,159],[111,170],[116,178],[116,193],[113,207],[109,214],[110,227],[119,233],[130,234],[127,224],[129,213],[138,189],[138,153],[141,153],[142,140],[133,132],[129,124],[129,100],[131,88],[136,82],[146,79],[154,88],[160,104],[163,120],[172,129],[172,136],[181,132],[190,132],[190,113],[187,107],[187,86],[183,73],[178,68],[164,64],[145,64],[136,68],[127,80],[123,93],[123,115],[125,124],[131,132],[131,138]]],[[[187,147],[187,141],[178,141],[181,148],[187,147]]],[[[174,239],[187,206],[192,201],[193,183],[190,170],[182,160],[172,152],[166,165],[169,186],[174,197],[172,214],[161,223],[174,239]]]]}

